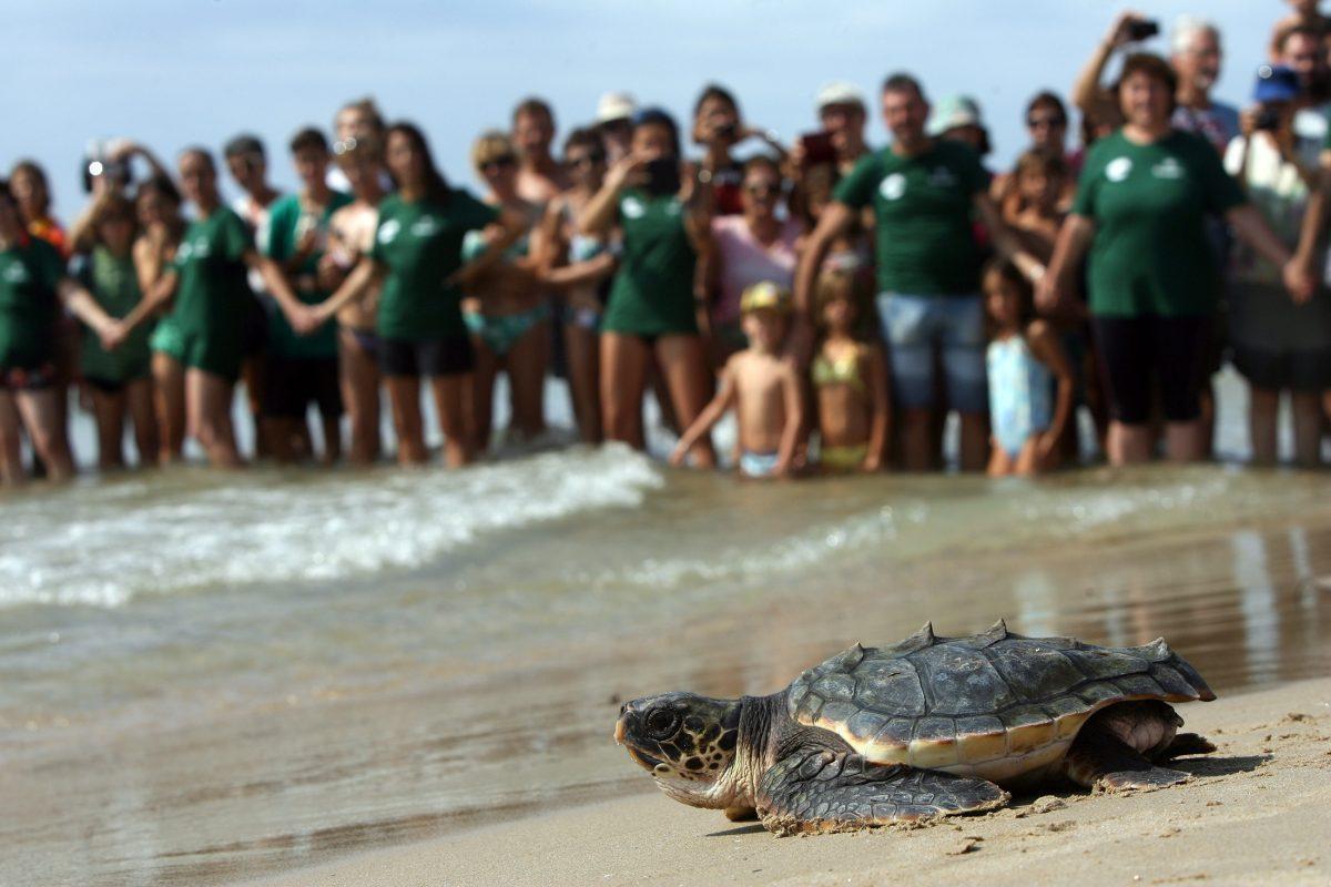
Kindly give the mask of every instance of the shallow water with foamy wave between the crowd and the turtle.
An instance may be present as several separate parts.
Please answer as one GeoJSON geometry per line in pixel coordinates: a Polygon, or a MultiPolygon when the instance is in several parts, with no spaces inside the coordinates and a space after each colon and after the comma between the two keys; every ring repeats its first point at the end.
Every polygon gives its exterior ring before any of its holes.
{"type": "Polygon", "coordinates": [[[620,699],[771,693],[925,620],[1163,634],[1221,693],[1324,674],[1328,492],[763,485],[619,448],[33,489],[0,505],[0,884],[224,883],[651,790],[620,699]]]}

